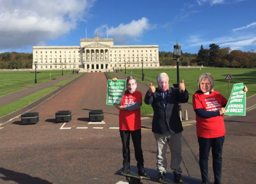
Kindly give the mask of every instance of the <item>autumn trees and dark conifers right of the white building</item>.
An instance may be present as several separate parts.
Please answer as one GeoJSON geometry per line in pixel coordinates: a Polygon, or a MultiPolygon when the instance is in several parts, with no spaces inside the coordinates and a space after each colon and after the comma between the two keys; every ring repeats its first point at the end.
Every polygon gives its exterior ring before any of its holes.
{"type": "MultiPolygon", "coordinates": [[[[176,65],[176,58],[172,52],[159,52],[160,65],[176,65]]],[[[202,45],[198,54],[181,52],[181,66],[214,66],[230,68],[256,67],[256,53],[254,50],[243,52],[231,50],[229,47],[220,48],[219,45],[210,44],[209,49],[202,45]]]]}

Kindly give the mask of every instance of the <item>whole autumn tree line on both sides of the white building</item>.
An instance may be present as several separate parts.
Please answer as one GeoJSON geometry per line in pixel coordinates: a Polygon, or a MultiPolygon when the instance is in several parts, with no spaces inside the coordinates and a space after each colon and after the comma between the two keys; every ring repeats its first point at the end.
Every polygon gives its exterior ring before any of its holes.
{"type": "MultiPolygon", "coordinates": [[[[160,66],[176,65],[173,52],[159,52],[160,66]]],[[[0,69],[32,68],[33,54],[24,52],[0,53],[0,69]]],[[[243,52],[230,50],[229,47],[220,48],[216,44],[210,44],[209,49],[202,45],[198,54],[181,52],[180,66],[214,66],[230,68],[252,68],[256,67],[256,52],[251,50],[243,52]]]]}

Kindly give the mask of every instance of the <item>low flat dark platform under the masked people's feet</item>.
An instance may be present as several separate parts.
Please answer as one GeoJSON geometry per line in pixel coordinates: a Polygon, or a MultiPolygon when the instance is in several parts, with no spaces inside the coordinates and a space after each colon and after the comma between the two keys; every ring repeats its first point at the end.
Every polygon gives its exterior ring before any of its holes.
{"type": "MultiPolygon", "coordinates": [[[[163,184],[176,184],[174,182],[174,174],[170,172],[166,172],[166,180],[158,181],[158,170],[145,168],[148,176],[140,176],[138,175],[138,168],[136,166],[130,166],[130,172],[127,174],[121,174],[121,169],[117,170],[115,174],[120,176],[125,176],[126,180],[129,184],[142,184],[141,180],[150,180],[153,182],[163,183],[163,184]]],[[[201,184],[202,180],[197,178],[191,178],[188,176],[182,176],[183,184],[201,184]]]]}

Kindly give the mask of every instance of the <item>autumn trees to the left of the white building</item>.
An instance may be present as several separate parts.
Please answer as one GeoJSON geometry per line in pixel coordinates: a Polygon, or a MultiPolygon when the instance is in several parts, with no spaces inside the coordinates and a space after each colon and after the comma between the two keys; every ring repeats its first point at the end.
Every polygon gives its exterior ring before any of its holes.
{"type": "Polygon", "coordinates": [[[0,69],[32,68],[33,54],[24,52],[0,53],[0,69]]]}

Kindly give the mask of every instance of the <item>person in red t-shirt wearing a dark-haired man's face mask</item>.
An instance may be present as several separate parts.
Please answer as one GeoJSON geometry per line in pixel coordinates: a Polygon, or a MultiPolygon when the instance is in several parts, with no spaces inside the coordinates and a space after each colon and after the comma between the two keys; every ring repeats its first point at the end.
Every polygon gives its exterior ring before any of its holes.
{"type": "MultiPolygon", "coordinates": [[[[116,81],[117,78],[113,78],[116,81]]],[[[121,100],[121,106],[114,104],[119,110],[119,132],[122,139],[123,168],[121,174],[130,172],[130,136],[134,145],[135,158],[137,161],[138,174],[147,176],[144,170],[144,159],[141,148],[141,120],[140,106],[142,105],[142,93],[136,91],[136,79],[128,76],[126,88],[121,100]]]]}

